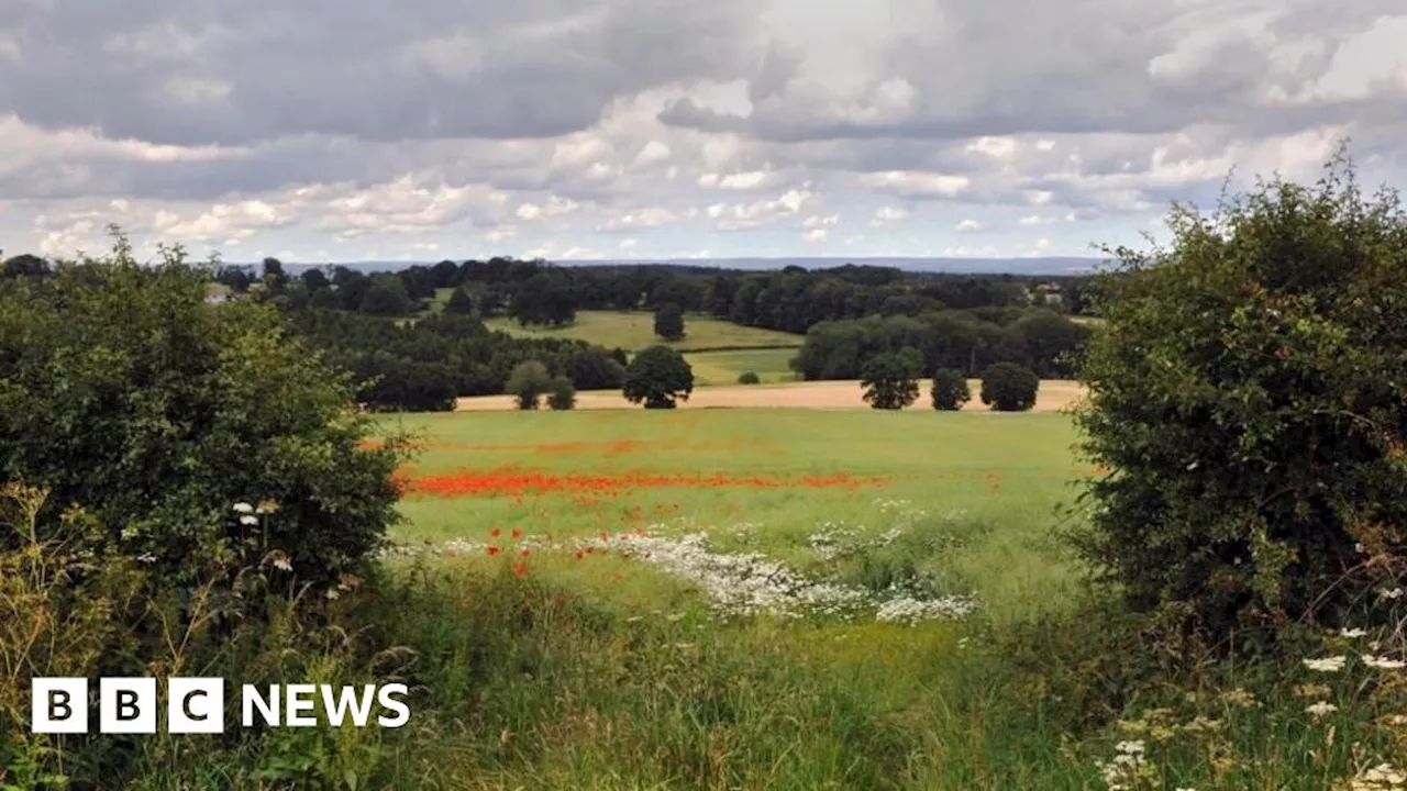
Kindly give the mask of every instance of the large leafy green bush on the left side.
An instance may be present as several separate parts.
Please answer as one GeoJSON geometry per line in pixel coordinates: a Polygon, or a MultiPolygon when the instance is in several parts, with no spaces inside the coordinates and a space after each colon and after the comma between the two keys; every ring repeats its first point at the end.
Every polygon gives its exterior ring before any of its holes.
{"type": "MultiPolygon", "coordinates": [[[[395,521],[397,443],[279,314],[205,304],[205,273],[110,258],[0,286],[0,477],[82,502],[172,581],[281,550],[310,580],[362,567],[395,521]],[[284,504],[250,549],[229,505],[284,504]]],[[[13,548],[0,538],[0,548],[13,548]]]]}

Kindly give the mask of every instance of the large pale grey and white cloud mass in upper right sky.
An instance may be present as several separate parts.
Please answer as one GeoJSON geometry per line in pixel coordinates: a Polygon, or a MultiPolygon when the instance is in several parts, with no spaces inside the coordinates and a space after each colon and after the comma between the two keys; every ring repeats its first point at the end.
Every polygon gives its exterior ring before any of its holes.
{"type": "Polygon", "coordinates": [[[775,77],[758,75],[770,90],[754,103],[750,117],[681,100],[660,120],[779,142],[1159,134],[1199,122],[1269,134],[1334,120],[1387,122],[1407,104],[1407,89],[1382,86],[1366,99],[1306,106],[1271,104],[1261,94],[1271,86],[1294,94],[1327,70],[1339,44],[1369,30],[1379,14],[1401,10],[1394,0],[1332,8],[1296,0],[948,1],[941,3],[940,21],[930,30],[895,39],[872,75],[872,87],[896,76],[915,86],[916,103],[906,118],[844,118],[826,101],[792,96],[777,87],[775,77]],[[1265,31],[1238,31],[1237,20],[1254,21],[1256,11],[1265,31]],[[1213,35],[1221,30],[1228,32],[1213,35]],[[1272,62],[1268,37],[1279,44],[1317,41],[1320,46],[1300,46],[1297,61],[1272,62]]]}

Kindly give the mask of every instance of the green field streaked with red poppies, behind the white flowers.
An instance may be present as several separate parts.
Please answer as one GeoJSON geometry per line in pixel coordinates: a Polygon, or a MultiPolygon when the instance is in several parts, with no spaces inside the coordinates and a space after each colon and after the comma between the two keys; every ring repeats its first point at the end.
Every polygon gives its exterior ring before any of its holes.
{"type": "MultiPolygon", "coordinates": [[[[713,555],[825,583],[846,560],[872,566],[862,548],[889,536],[884,555],[909,548],[895,559],[909,583],[981,598],[991,615],[1059,590],[1048,531],[1083,472],[1061,415],[456,414],[408,426],[419,446],[402,470],[404,552],[491,559],[528,542],[543,574],[580,577],[561,562],[625,563],[647,552],[632,546],[706,536],[713,555]]],[[[639,587],[698,588],[637,569],[639,587]]]]}

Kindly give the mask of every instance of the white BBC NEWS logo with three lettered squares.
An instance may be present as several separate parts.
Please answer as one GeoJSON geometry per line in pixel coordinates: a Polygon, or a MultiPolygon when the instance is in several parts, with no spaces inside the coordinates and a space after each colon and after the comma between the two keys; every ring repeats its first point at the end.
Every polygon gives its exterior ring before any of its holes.
{"type": "MultiPolygon", "coordinates": [[[[224,678],[169,678],[166,692],[167,733],[225,732],[224,678]]],[[[405,684],[272,684],[267,690],[245,684],[239,692],[239,722],[243,728],[317,726],[321,700],[329,725],[350,721],[357,728],[371,722],[400,728],[411,719],[411,709],[401,700],[407,694],[405,684]],[[373,721],[374,704],[380,704],[383,712],[373,721]]],[[[156,733],[159,708],[156,678],[98,678],[98,733],[156,733]]],[[[89,680],[35,678],[30,729],[35,733],[87,733],[89,680]]]]}

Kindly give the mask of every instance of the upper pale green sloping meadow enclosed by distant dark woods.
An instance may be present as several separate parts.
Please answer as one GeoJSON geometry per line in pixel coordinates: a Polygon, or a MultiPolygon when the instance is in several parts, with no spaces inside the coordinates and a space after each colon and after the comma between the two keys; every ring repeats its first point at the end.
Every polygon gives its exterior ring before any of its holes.
{"type": "Polygon", "coordinates": [[[654,335],[654,314],[646,311],[580,311],[574,324],[556,329],[528,328],[511,318],[494,318],[487,324],[491,329],[523,338],[570,338],[628,352],[637,352],[656,343],[666,343],[681,352],[757,346],[799,348],[802,343],[799,335],[741,327],[702,315],[684,318],[687,336],[682,341],[664,342],[654,335]]]}

